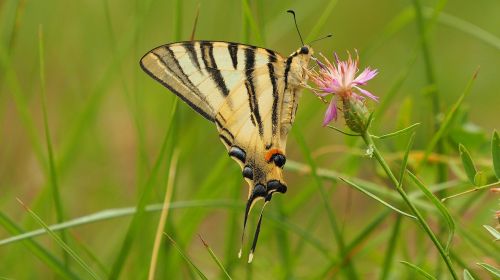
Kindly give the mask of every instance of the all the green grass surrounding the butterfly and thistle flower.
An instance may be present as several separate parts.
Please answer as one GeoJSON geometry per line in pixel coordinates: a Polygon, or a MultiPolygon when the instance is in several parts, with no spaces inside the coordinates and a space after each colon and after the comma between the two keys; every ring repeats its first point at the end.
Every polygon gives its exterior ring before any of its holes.
{"type": "MultiPolygon", "coordinates": [[[[493,277],[498,9],[487,0],[0,2],[0,278],[144,279],[156,249],[157,279],[493,277]],[[237,257],[239,167],[214,125],[138,65],[153,47],[189,40],[198,5],[195,39],[287,55],[300,47],[294,9],[306,42],[333,34],[313,43],[316,54],[358,49],[361,67],[380,71],[366,88],[381,98],[368,105],[385,165],[360,137],[323,128],[326,107],[304,90],[288,192],[267,206],[251,265],[237,257]],[[158,247],[174,150],[170,238],[158,247]]],[[[343,120],[332,125],[351,133],[343,120]]]]}

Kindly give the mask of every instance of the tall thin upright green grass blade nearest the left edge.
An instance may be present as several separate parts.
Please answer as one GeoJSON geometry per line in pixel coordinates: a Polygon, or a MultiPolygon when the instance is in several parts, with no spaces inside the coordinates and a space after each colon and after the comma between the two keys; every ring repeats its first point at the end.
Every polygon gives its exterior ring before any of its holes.
{"type": "MultiPolygon", "coordinates": [[[[57,171],[54,161],[54,151],[52,149],[52,141],[50,139],[50,129],[49,129],[49,120],[47,116],[47,94],[45,92],[45,51],[44,51],[44,42],[43,42],[43,26],[38,26],[38,58],[39,58],[39,67],[40,67],[40,93],[42,99],[42,113],[43,113],[43,126],[45,129],[45,141],[47,144],[47,154],[49,157],[49,169],[50,169],[50,188],[52,193],[52,200],[54,202],[55,211],[56,211],[56,220],[57,223],[61,223],[64,221],[64,210],[61,202],[61,194],[59,191],[59,183],[57,179],[57,171]]],[[[66,236],[65,231],[61,231],[61,240],[64,243],[68,243],[68,237],[66,236]]],[[[68,266],[69,256],[63,251],[63,259],[64,264],[68,266]]]]}

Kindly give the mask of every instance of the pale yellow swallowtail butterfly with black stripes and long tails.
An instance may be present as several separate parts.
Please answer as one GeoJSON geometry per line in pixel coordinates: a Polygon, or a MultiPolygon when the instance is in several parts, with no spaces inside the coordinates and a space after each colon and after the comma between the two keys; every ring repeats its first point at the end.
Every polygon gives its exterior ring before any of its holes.
{"type": "Polygon", "coordinates": [[[264,200],[248,262],[265,205],[274,193],[287,191],[286,141],[312,54],[304,44],[284,57],[240,43],[185,41],[154,48],[140,61],[147,74],[215,124],[229,156],[240,165],[249,185],[242,244],[248,214],[264,200]]]}

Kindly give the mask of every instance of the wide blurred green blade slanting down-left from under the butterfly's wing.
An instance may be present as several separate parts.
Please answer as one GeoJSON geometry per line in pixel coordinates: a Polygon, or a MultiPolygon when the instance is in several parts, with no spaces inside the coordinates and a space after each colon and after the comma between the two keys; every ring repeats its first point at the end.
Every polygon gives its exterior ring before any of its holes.
{"type": "Polygon", "coordinates": [[[142,216],[144,214],[144,208],[146,206],[146,201],[149,197],[149,194],[151,193],[151,190],[154,186],[156,177],[158,175],[158,171],[160,169],[160,165],[163,162],[163,159],[165,158],[166,150],[167,150],[167,145],[168,141],[170,139],[171,131],[172,131],[172,123],[174,120],[174,115],[175,111],[177,109],[177,103],[178,99],[176,98],[173,105],[172,109],[170,111],[170,118],[169,118],[169,124],[167,126],[167,131],[165,133],[165,137],[163,139],[162,146],[160,148],[160,152],[158,153],[156,162],[153,166],[153,169],[151,170],[151,173],[148,177],[148,180],[146,181],[144,187],[141,190],[141,195],[139,197],[139,201],[137,202],[137,211],[134,213],[132,216],[132,221],[129,224],[129,228],[127,230],[127,233],[125,235],[125,239],[122,242],[122,246],[120,248],[120,252],[118,253],[118,256],[115,259],[115,262],[113,264],[113,267],[111,269],[111,274],[110,274],[110,279],[118,279],[120,276],[120,273],[122,271],[123,265],[125,263],[125,260],[127,259],[127,256],[130,252],[130,248],[132,247],[132,243],[135,239],[135,235],[139,230],[140,224],[142,222],[142,216]]]}

